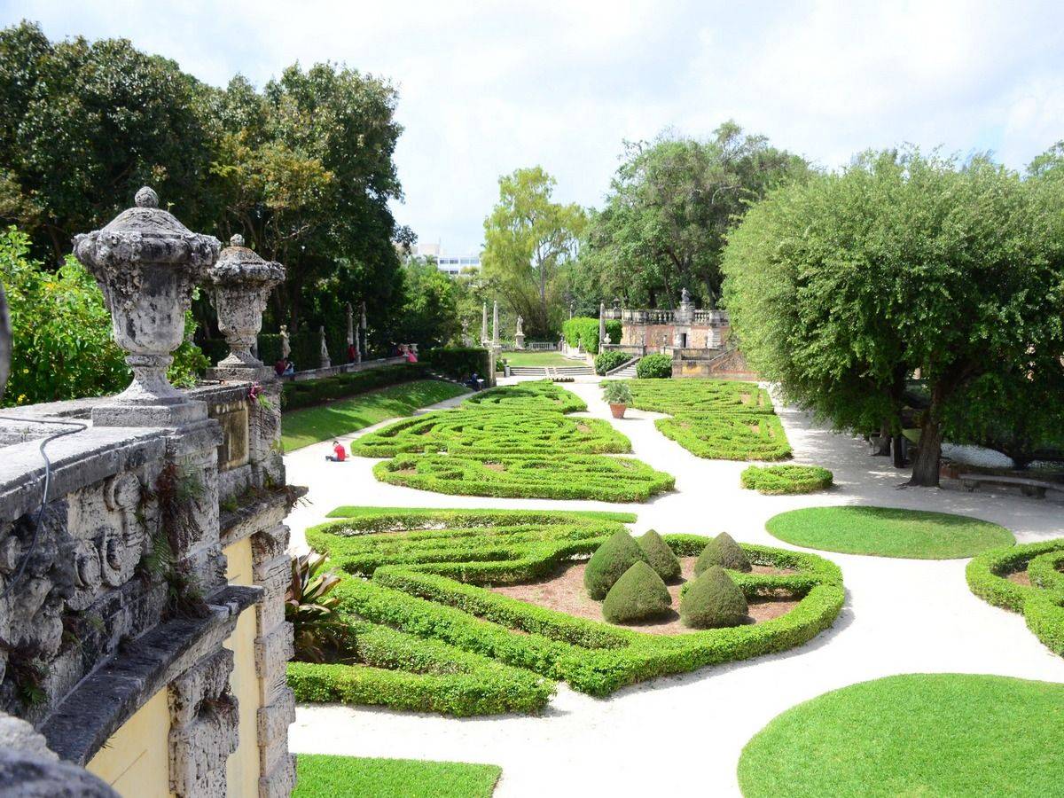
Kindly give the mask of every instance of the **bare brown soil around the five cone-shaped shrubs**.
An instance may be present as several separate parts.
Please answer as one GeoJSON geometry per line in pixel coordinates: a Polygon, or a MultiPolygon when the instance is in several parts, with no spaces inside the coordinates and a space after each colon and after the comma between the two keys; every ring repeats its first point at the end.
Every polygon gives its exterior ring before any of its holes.
{"type": "MultiPolygon", "coordinates": [[[[669,596],[672,597],[672,609],[667,615],[645,624],[626,624],[625,629],[632,629],[637,632],[649,634],[685,634],[695,631],[680,622],[680,587],[683,582],[693,579],[695,576],[696,556],[680,558],[682,581],[668,585],[669,596]]],[[[493,593],[498,593],[510,598],[527,601],[530,604],[545,606],[548,610],[572,615],[578,618],[597,620],[605,622],[602,618],[602,603],[593,600],[587,591],[584,589],[584,569],[586,563],[575,563],[555,572],[549,579],[538,582],[527,582],[525,584],[500,585],[492,587],[493,593]]],[[[754,565],[755,573],[793,573],[793,570],[772,568],[766,565],[754,565]]],[[[789,596],[777,596],[772,598],[759,599],[750,602],[749,622],[763,624],[766,620],[778,618],[798,605],[798,599],[789,596]]]]}

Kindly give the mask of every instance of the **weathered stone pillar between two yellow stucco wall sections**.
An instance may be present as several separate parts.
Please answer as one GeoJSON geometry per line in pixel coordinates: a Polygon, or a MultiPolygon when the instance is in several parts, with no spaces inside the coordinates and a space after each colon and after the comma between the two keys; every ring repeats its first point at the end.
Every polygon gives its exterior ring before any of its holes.
{"type": "Polygon", "coordinates": [[[219,647],[169,686],[170,789],[178,798],[225,798],[226,760],[236,750],[233,652],[219,647]]]}

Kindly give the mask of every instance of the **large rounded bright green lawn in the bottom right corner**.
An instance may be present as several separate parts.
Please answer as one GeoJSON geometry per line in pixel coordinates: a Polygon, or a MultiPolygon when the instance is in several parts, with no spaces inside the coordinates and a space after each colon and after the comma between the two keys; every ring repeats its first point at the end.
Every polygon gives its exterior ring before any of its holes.
{"type": "Polygon", "coordinates": [[[794,706],[743,749],[746,798],[1048,796],[1064,784],[1064,685],[909,674],[794,706]]]}

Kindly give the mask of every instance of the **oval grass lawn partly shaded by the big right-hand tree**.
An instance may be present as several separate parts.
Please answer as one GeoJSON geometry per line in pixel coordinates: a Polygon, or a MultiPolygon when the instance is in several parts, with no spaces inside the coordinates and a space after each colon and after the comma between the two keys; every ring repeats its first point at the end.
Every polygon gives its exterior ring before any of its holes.
{"type": "Polygon", "coordinates": [[[975,556],[1016,542],[1004,527],[978,518],[890,508],[805,508],[780,513],[765,527],[795,546],[913,560],[975,556]]]}

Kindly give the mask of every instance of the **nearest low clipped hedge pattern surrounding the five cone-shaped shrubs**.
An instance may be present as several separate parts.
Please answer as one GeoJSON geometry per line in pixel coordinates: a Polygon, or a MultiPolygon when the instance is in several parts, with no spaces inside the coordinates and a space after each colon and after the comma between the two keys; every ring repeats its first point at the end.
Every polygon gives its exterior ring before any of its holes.
{"type": "MultiPolygon", "coordinates": [[[[307,542],[347,575],[335,595],[352,625],[366,625],[354,627],[356,639],[367,629],[373,636],[368,649],[356,642],[351,664],[290,665],[289,684],[304,701],[454,715],[535,712],[554,681],[604,696],[653,677],[793,648],[829,628],[843,605],[842,572],[831,562],[743,546],[753,563],[795,571],[729,572],[744,595],[784,591],[799,597],[794,610],[753,626],[641,633],[484,587],[545,578],[589,555],[633,516],[368,508],[338,514],[347,517],[307,530],[307,542]]],[[[680,556],[698,554],[709,539],[663,537],[680,556]]]]}

